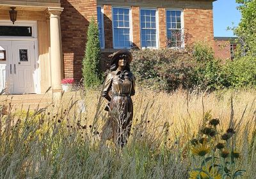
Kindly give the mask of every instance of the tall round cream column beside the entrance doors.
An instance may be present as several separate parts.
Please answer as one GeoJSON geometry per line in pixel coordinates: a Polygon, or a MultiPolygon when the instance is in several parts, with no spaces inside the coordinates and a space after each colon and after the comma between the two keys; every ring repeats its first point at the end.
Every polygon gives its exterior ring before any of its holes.
{"type": "Polygon", "coordinates": [[[63,8],[48,8],[50,14],[51,36],[51,86],[53,90],[61,89],[63,77],[60,14],[63,8]]]}

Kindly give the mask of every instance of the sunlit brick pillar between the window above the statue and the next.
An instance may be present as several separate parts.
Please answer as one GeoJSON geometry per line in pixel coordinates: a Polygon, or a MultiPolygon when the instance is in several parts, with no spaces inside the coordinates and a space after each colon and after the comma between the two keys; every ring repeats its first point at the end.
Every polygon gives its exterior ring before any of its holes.
{"type": "Polygon", "coordinates": [[[138,6],[132,6],[132,36],[133,47],[140,49],[140,8],[138,6]]]}

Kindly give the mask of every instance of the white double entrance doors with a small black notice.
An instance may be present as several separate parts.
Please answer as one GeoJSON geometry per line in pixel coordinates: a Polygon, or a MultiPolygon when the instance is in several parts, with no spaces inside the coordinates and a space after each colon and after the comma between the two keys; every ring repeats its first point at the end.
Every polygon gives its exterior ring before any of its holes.
{"type": "Polygon", "coordinates": [[[35,93],[34,43],[0,41],[0,46],[6,51],[6,61],[0,61],[0,82],[3,81],[0,89],[7,88],[12,94],[35,93]]]}

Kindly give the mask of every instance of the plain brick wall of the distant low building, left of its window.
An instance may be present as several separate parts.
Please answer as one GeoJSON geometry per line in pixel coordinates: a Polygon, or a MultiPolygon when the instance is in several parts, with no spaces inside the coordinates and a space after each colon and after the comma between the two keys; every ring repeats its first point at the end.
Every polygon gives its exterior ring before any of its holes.
{"type": "Polygon", "coordinates": [[[230,59],[230,41],[214,40],[214,52],[216,58],[230,59]]]}

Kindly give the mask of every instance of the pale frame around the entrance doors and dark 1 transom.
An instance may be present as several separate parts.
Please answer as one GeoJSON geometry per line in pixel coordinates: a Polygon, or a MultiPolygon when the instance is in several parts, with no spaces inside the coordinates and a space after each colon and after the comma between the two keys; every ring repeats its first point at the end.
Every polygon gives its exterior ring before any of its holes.
{"type": "Polygon", "coordinates": [[[39,66],[39,52],[38,52],[38,38],[37,38],[37,21],[36,20],[17,20],[15,24],[12,24],[10,20],[0,20],[0,25],[2,26],[31,26],[32,36],[0,36],[0,41],[34,41],[35,44],[35,93],[41,93],[41,72],[39,66]]]}

